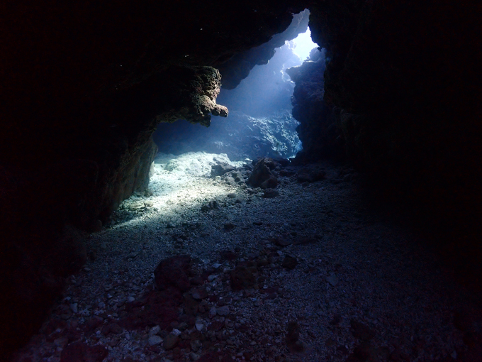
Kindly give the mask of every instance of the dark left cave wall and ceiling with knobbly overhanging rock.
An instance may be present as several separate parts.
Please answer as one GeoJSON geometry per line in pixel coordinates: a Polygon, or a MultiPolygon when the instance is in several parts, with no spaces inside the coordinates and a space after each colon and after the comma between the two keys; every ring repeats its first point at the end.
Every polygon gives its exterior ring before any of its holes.
{"type": "Polygon", "coordinates": [[[26,1],[1,12],[2,356],[82,260],[82,248],[54,258],[65,226],[98,231],[147,186],[159,122],[226,116],[209,66],[284,31],[304,9],[291,5],[26,1]]]}

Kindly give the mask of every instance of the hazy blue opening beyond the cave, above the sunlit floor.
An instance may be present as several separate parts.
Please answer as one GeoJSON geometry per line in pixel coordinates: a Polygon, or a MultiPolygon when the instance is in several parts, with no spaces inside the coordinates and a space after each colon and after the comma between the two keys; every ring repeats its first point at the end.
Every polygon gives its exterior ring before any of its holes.
{"type": "Polygon", "coordinates": [[[299,122],[291,114],[295,84],[286,69],[303,60],[323,62],[324,50],[318,50],[308,28],[275,52],[266,65],[254,65],[235,89],[221,88],[217,102],[228,107],[227,119],[213,116],[208,128],[184,120],[159,124],[154,134],[159,153],[225,153],[233,161],[295,157],[302,145],[299,122]]]}

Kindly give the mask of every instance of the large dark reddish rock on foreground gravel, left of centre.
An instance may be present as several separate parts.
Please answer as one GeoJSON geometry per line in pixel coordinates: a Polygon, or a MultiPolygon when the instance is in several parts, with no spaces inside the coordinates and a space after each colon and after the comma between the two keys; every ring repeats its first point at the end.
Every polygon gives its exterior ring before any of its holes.
{"type": "Polygon", "coordinates": [[[173,256],[162,260],[154,270],[155,283],[159,290],[175,287],[181,292],[189,290],[191,273],[190,256],[173,256]]]}

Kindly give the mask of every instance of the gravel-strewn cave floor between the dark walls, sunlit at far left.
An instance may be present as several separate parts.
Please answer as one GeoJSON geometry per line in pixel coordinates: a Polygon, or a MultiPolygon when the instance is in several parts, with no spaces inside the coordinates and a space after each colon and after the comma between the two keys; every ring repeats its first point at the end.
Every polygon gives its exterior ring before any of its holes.
{"type": "Polygon", "coordinates": [[[464,343],[482,327],[470,292],[420,236],[365,203],[349,168],[290,166],[267,198],[230,177],[164,167],[91,234],[89,262],[14,361],[451,361],[480,352],[464,343]],[[325,180],[298,182],[313,170],[325,180]],[[191,281],[201,285],[174,300],[174,317],[159,312],[167,324],[136,324],[157,264],[180,255],[193,258],[191,281]],[[232,290],[232,270],[244,270],[242,290],[232,290]]]}

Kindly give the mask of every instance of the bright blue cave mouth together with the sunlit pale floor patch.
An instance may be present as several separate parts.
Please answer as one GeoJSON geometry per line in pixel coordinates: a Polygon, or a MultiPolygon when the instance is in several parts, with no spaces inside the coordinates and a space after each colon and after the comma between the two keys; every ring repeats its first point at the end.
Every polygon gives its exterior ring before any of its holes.
{"type": "MultiPolygon", "coordinates": [[[[294,14],[291,26],[276,35],[276,44],[281,46],[274,48],[274,54],[253,64],[234,89],[221,87],[216,101],[228,107],[227,117],[211,116],[207,127],[182,119],[157,126],[153,139],[159,152],[151,166],[149,187],[120,204],[110,225],[135,219],[146,210],[182,209],[186,202],[177,204],[186,195],[198,203],[223,195],[226,190],[219,180],[231,187],[261,187],[267,195],[277,194],[271,190],[278,183],[271,170],[277,165],[279,171],[280,165],[288,165],[303,149],[297,132],[300,122],[292,115],[295,82],[287,70],[293,67],[292,74],[296,74],[303,63],[321,67],[325,63],[325,50],[310,38],[308,16],[308,10],[294,14]],[[264,178],[252,177],[250,182],[251,172],[262,158],[271,159],[269,170],[264,178]],[[213,178],[215,184],[204,182],[203,177],[213,178]]],[[[240,203],[239,198],[232,201],[240,203]]],[[[164,219],[170,222],[169,212],[164,219]]]]}

